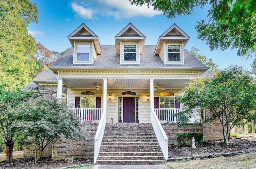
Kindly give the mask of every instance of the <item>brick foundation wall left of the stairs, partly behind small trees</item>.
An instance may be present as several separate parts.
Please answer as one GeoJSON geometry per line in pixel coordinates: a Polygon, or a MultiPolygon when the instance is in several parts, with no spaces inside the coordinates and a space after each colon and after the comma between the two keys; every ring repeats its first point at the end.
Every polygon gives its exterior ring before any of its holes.
{"type": "MultiPolygon", "coordinates": [[[[53,145],[53,159],[74,158],[93,158],[94,157],[94,136],[96,134],[98,123],[82,123],[81,136],[84,138],[78,140],[68,140],[64,136],[61,141],[53,145]]],[[[34,157],[34,147],[24,147],[24,157],[34,157]]],[[[50,143],[43,152],[43,157],[52,156],[52,143],[50,143]]]]}

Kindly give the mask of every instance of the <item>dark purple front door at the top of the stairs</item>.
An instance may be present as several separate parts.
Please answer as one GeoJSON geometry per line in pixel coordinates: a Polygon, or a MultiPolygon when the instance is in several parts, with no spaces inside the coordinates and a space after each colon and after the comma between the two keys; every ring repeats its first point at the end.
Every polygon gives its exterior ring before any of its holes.
{"type": "Polygon", "coordinates": [[[134,97],[124,97],[123,100],[123,122],[134,123],[135,122],[135,102],[134,97]]]}

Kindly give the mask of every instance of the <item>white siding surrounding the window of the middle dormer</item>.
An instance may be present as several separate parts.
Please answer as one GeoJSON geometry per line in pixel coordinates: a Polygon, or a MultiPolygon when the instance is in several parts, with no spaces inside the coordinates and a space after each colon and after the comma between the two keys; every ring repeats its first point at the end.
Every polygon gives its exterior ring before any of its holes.
{"type": "Polygon", "coordinates": [[[140,43],[122,42],[120,50],[120,64],[140,64],[140,43]],[[124,45],[136,45],[136,61],[124,61],[124,45]]]}

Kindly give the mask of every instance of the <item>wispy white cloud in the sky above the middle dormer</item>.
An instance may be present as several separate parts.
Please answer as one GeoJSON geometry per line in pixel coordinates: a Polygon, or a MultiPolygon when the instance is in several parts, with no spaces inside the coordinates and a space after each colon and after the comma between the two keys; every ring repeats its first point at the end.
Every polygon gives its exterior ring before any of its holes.
{"type": "Polygon", "coordinates": [[[152,17],[162,12],[155,11],[152,6],[131,5],[129,0],[73,0],[72,9],[82,18],[92,19],[98,16],[114,16],[116,19],[133,18],[135,16],[152,17]]]}

